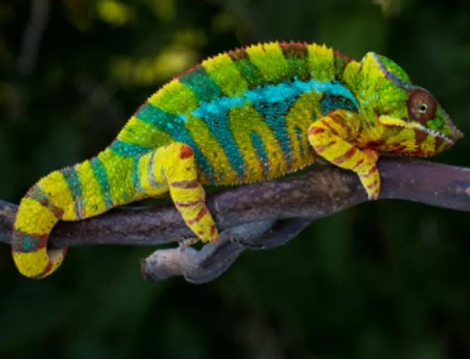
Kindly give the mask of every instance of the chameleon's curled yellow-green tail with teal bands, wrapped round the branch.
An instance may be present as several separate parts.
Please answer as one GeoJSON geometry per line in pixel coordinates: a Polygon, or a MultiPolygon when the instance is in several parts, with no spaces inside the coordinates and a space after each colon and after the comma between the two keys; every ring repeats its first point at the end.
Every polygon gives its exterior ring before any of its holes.
{"type": "Polygon", "coordinates": [[[47,249],[47,238],[59,220],[77,221],[112,207],[144,198],[137,191],[138,156],[108,147],[98,156],[56,170],[40,179],[22,198],[13,225],[13,260],[30,278],[54,272],[67,249],[47,249]]]}

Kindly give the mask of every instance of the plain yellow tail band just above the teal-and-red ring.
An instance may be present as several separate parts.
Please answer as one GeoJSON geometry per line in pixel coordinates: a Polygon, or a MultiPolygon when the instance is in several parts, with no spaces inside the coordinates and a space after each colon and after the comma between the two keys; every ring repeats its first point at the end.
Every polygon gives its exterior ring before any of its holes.
{"type": "Polygon", "coordinates": [[[24,210],[17,212],[15,220],[17,230],[37,235],[50,233],[52,226],[57,221],[54,213],[33,198],[23,198],[21,205],[24,210]]]}

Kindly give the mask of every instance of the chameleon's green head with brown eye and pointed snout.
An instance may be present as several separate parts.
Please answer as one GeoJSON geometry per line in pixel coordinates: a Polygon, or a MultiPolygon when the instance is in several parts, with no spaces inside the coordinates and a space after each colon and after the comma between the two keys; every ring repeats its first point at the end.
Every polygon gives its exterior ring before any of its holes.
{"type": "Polygon", "coordinates": [[[434,96],[413,85],[395,62],[369,52],[361,66],[359,105],[375,130],[371,132],[385,139],[379,150],[432,156],[464,136],[434,96]]]}

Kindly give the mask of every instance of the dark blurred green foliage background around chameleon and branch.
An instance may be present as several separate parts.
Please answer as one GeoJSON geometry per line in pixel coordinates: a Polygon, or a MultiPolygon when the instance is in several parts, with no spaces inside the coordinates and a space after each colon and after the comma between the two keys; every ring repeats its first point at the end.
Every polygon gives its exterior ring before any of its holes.
{"type": "MultiPolygon", "coordinates": [[[[391,57],[470,133],[469,1],[1,1],[0,198],[96,154],[185,68],[276,39],[391,57]]],[[[469,166],[469,148],[430,161],[469,166]]],[[[144,281],[149,247],[74,248],[32,281],[1,245],[0,358],[470,358],[468,224],[367,203],[202,286],[144,281]]]]}

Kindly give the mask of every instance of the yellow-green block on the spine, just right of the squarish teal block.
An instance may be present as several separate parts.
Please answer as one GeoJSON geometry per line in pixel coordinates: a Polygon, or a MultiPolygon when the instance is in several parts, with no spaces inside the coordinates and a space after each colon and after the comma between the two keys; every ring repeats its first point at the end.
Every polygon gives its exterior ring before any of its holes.
{"type": "Polygon", "coordinates": [[[248,89],[248,83],[228,54],[204,60],[202,66],[226,96],[240,95],[248,89]]]}

